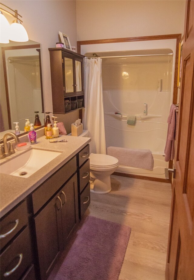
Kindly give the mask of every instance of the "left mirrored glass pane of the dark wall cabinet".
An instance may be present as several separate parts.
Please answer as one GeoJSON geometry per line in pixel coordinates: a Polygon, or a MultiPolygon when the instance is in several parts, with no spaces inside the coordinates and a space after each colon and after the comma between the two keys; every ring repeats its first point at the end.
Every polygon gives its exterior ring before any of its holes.
{"type": "Polygon", "coordinates": [[[73,59],[65,57],[65,92],[74,92],[73,90],[73,59]]]}

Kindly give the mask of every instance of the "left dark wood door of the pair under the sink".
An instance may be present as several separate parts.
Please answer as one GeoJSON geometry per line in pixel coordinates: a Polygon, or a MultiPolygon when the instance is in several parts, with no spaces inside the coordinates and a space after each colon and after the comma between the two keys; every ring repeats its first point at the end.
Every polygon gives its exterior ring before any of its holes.
{"type": "Polygon", "coordinates": [[[59,251],[63,249],[61,208],[58,193],[34,218],[41,280],[48,277],[59,251]]]}

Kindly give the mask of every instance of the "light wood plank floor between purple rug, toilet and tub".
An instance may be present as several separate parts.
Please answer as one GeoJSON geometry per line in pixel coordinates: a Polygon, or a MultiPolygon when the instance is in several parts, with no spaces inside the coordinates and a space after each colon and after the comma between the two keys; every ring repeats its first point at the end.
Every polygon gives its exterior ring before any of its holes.
{"type": "Polygon", "coordinates": [[[111,185],[91,193],[86,215],[132,228],[119,280],[165,280],[171,185],[115,175],[111,185]]]}

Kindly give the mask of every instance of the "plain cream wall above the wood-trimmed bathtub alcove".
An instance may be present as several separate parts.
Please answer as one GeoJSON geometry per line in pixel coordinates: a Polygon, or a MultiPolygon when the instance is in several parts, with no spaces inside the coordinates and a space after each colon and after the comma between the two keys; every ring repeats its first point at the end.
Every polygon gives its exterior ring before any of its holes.
{"type": "Polygon", "coordinates": [[[185,0],[76,1],[78,41],[183,33],[185,0]]]}

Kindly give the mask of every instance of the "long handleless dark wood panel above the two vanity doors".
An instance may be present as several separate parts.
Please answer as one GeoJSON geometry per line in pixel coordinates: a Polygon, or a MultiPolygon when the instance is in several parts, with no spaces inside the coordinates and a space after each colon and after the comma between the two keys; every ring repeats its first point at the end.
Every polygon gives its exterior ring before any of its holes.
{"type": "Polygon", "coordinates": [[[58,191],[58,189],[76,172],[76,156],[63,165],[32,193],[34,214],[58,191]]]}

